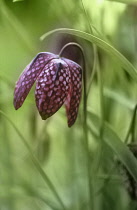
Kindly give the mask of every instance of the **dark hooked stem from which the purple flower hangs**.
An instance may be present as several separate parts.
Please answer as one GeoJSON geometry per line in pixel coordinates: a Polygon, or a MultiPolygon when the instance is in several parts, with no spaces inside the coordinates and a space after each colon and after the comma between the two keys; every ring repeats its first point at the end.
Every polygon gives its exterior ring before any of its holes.
{"type": "Polygon", "coordinates": [[[75,46],[79,48],[82,54],[82,62],[83,62],[83,86],[84,86],[84,97],[83,97],[83,113],[84,113],[84,120],[83,120],[83,131],[84,131],[84,144],[85,144],[85,151],[86,151],[86,162],[87,162],[87,177],[88,177],[88,190],[89,190],[89,204],[90,208],[92,207],[91,197],[92,197],[92,190],[91,190],[91,175],[90,175],[90,151],[89,151],[89,142],[88,142],[88,126],[87,126],[87,83],[86,83],[86,64],[85,64],[85,55],[83,48],[75,42],[69,42],[68,44],[64,45],[61,49],[59,56],[63,54],[64,50],[70,46],[75,46]]]}

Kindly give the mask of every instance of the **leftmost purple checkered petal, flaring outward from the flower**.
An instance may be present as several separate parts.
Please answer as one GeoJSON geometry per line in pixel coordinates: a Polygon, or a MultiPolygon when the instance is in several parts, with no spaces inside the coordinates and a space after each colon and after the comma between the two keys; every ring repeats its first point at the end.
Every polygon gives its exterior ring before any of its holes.
{"type": "Polygon", "coordinates": [[[43,70],[44,66],[53,58],[57,58],[57,55],[45,52],[39,53],[24,69],[23,73],[19,77],[19,80],[16,82],[14,91],[15,109],[22,106],[32,85],[43,70]]]}

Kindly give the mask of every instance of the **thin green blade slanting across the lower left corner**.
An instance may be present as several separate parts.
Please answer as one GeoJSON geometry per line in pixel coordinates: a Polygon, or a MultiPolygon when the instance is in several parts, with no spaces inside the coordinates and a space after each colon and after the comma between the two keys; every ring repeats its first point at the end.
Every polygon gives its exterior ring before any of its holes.
{"type": "Polygon", "coordinates": [[[64,203],[62,202],[62,200],[61,200],[58,192],[56,191],[55,186],[53,185],[53,183],[51,182],[51,180],[49,179],[49,177],[47,176],[47,174],[45,173],[45,171],[41,168],[39,161],[34,156],[32,150],[31,150],[31,147],[27,143],[27,141],[24,138],[24,136],[20,133],[20,131],[18,130],[18,128],[15,126],[15,124],[11,121],[11,119],[4,112],[2,112],[0,110],[0,113],[10,122],[10,124],[12,125],[12,127],[15,129],[15,131],[17,132],[17,134],[21,138],[22,142],[24,143],[25,147],[29,151],[29,154],[31,155],[32,161],[33,161],[34,165],[36,166],[37,170],[39,171],[39,173],[41,174],[42,178],[48,184],[48,186],[49,186],[50,190],[53,192],[55,198],[58,200],[58,202],[62,206],[62,209],[63,210],[66,210],[66,207],[64,206],[64,203]]]}

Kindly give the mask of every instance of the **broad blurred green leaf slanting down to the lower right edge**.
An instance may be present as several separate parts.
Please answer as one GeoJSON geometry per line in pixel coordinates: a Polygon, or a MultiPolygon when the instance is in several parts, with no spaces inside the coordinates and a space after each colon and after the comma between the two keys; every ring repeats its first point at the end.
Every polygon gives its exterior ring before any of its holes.
{"type": "MultiPolygon", "coordinates": [[[[95,128],[95,133],[99,137],[100,118],[91,111],[88,111],[88,116],[95,128]]],[[[137,160],[130,152],[128,147],[121,141],[111,126],[104,122],[103,140],[115,152],[119,160],[125,165],[130,174],[137,181],[137,160]]]]}

